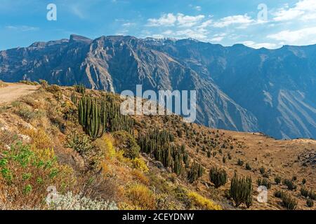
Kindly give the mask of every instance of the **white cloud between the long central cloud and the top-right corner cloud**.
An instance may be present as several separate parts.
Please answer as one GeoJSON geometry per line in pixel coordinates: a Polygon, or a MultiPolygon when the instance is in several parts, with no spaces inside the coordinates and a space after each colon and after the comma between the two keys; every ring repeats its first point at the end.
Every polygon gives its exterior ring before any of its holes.
{"type": "Polygon", "coordinates": [[[230,25],[240,25],[240,27],[247,27],[251,25],[251,23],[256,22],[255,20],[251,19],[251,17],[247,14],[245,15],[230,15],[225,18],[221,18],[217,22],[213,23],[213,27],[223,28],[228,27],[230,25]]]}

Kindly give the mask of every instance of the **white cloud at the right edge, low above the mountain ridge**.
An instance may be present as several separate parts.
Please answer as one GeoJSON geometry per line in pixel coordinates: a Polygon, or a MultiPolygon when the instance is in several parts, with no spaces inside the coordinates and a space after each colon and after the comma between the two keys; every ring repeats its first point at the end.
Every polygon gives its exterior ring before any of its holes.
{"type": "Polygon", "coordinates": [[[291,45],[307,45],[315,43],[316,27],[308,27],[296,30],[283,30],[267,37],[276,41],[283,41],[291,45]]]}

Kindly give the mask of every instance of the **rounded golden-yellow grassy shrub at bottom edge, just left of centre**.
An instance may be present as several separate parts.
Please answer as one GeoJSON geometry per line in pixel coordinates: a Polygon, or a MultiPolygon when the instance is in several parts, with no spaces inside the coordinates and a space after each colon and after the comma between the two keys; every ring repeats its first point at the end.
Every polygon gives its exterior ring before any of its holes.
{"type": "Polygon", "coordinates": [[[131,204],[140,209],[156,209],[154,193],[152,193],[152,191],[143,184],[133,184],[128,186],[126,190],[126,197],[129,199],[131,204]]]}

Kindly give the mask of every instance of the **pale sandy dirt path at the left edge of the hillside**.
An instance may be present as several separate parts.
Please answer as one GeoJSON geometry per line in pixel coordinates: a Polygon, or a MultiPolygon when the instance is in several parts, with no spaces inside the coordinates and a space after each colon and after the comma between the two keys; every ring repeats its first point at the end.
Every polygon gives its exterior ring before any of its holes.
{"type": "Polygon", "coordinates": [[[35,92],[39,86],[25,85],[22,83],[7,83],[8,86],[0,87],[0,104],[13,102],[22,96],[35,92]]]}

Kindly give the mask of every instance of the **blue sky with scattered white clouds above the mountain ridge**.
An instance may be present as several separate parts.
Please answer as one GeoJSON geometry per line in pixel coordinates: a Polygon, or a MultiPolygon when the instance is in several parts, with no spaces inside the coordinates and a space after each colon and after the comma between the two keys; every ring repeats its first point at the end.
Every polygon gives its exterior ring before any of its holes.
{"type": "Polygon", "coordinates": [[[316,0],[0,0],[0,50],[70,34],[309,45],[316,43],[316,0]],[[48,3],[57,6],[56,21],[46,19],[48,3]]]}

